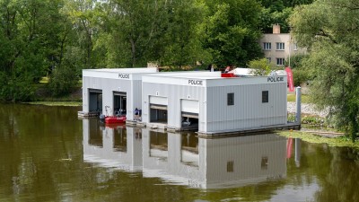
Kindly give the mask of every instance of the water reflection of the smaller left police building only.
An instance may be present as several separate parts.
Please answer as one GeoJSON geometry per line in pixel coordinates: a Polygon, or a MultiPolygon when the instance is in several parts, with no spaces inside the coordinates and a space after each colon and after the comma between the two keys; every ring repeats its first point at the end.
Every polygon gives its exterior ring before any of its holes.
{"type": "Polygon", "coordinates": [[[101,125],[100,146],[92,144],[94,141],[91,135],[93,132],[91,120],[83,119],[83,161],[124,171],[142,171],[141,128],[101,125]]]}

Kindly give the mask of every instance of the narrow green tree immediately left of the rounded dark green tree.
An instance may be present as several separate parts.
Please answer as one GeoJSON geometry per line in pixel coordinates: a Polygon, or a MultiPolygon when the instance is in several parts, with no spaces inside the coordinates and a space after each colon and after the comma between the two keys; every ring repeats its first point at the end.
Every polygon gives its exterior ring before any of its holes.
{"type": "MultiPolygon", "coordinates": [[[[196,61],[206,61],[206,53],[200,46],[197,32],[197,24],[204,17],[204,7],[192,0],[173,1],[169,10],[168,29],[163,32],[166,45],[162,52],[153,51],[162,54],[153,58],[159,58],[164,66],[188,66],[196,61]]],[[[163,40],[159,41],[163,43],[163,40]]],[[[161,47],[161,44],[157,47],[161,47]]]]}

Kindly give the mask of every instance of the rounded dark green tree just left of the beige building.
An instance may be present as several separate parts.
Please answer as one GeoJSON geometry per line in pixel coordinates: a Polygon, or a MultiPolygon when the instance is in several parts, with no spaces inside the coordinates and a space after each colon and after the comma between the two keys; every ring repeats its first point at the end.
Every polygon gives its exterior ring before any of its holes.
{"type": "Polygon", "coordinates": [[[250,0],[208,1],[209,14],[200,25],[203,47],[217,66],[245,66],[262,56],[258,39],[262,7],[250,0]]]}

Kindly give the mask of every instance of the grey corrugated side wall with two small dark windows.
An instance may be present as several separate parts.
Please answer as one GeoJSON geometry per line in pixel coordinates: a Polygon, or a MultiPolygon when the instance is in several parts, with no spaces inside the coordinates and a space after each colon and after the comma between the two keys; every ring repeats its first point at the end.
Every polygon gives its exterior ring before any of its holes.
{"type": "Polygon", "coordinates": [[[205,132],[285,124],[286,83],[209,87],[207,114],[205,132]],[[269,92],[267,103],[262,103],[262,91],[269,92]],[[234,105],[228,106],[231,92],[234,105]]]}

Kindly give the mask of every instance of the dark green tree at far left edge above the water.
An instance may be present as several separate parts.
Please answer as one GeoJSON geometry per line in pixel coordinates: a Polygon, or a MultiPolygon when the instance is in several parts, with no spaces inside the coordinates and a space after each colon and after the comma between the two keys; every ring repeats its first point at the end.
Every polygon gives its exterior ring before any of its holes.
{"type": "Polygon", "coordinates": [[[0,1],[1,99],[31,100],[33,84],[57,62],[54,50],[62,4],[62,0],[0,1]]]}

